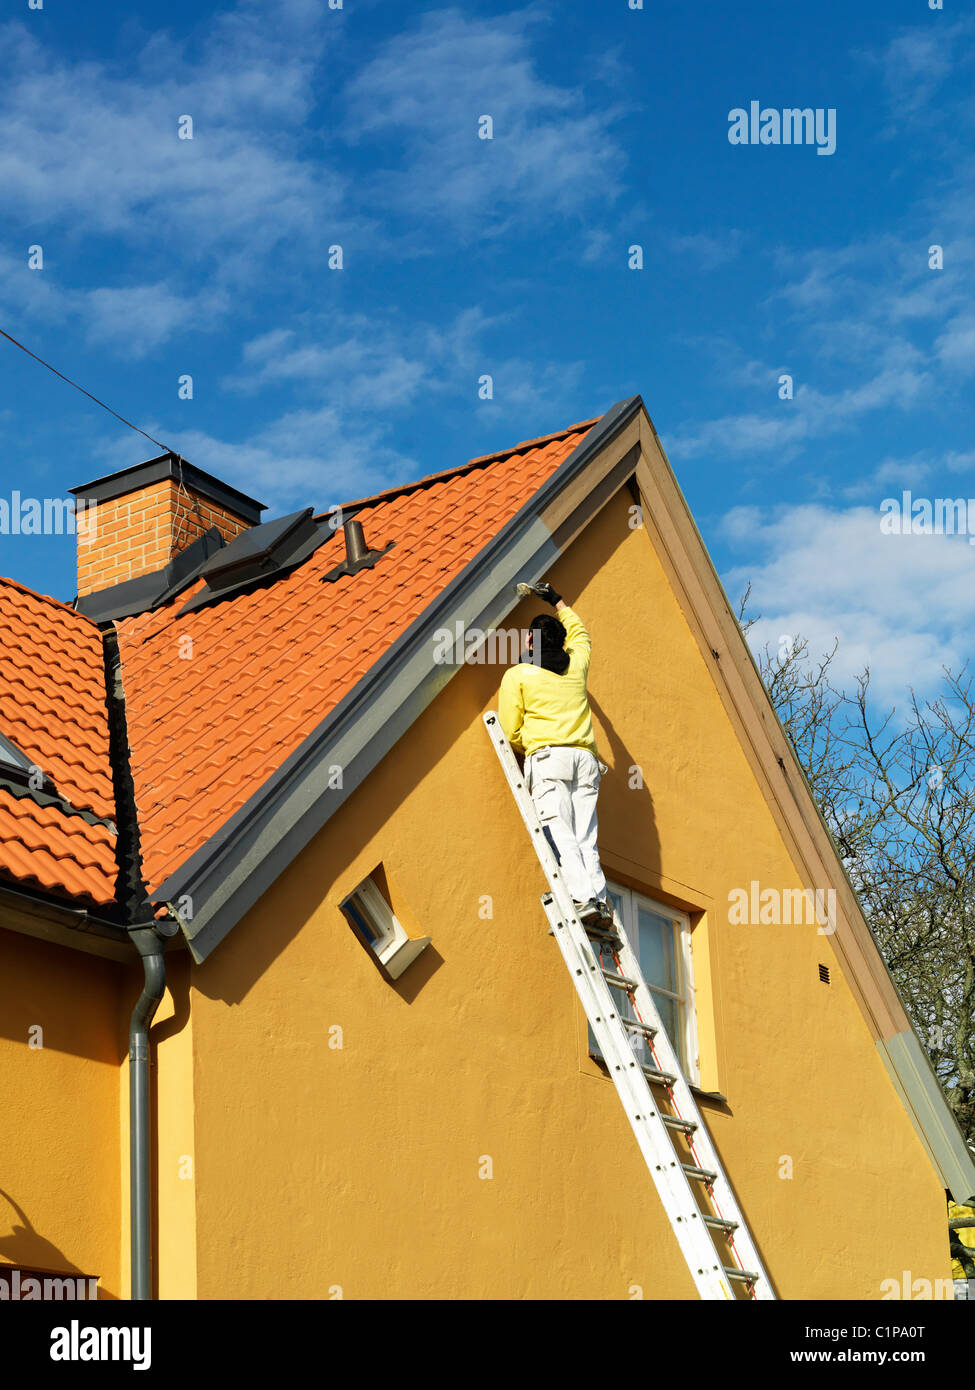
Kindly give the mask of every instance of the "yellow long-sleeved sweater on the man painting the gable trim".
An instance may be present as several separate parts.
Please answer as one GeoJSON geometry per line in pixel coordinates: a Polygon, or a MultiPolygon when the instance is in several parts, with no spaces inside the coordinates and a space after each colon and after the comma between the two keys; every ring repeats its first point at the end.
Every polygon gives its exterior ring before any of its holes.
{"type": "Polygon", "coordinates": [[[558,619],[566,631],[569,669],[556,676],[530,662],[509,667],[498,695],[501,727],[515,752],[526,756],[554,746],[588,748],[598,758],[586,695],[593,644],[583,620],[570,607],[561,609],[558,619]]]}

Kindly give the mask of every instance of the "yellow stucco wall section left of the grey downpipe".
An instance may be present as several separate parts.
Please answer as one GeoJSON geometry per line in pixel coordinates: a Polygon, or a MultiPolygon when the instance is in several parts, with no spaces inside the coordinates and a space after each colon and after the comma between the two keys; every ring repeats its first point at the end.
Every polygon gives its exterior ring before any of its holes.
{"type": "Polygon", "coordinates": [[[99,1276],[108,1298],[122,1294],[120,981],[111,962],[0,930],[0,1262],[99,1276]]]}

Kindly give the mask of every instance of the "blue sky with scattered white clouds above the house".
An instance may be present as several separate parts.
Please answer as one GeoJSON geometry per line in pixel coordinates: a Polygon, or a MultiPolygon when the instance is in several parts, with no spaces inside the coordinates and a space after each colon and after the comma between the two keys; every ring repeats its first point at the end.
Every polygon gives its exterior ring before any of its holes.
{"type": "MultiPolygon", "coordinates": [[[[879,505],[975,495],[971,7],[24,0],[0,51],[0,327],[268,514],[640,392],[759,638],[899,701],[969,657],[975,546],[879,505]],[[751,100],[836,152],[729,143],[751,100]]],[[[0,364],[0,496],[159,452],[0,364]]],[[[0,571],[71,599],[74,542],[0,571]]]]}

